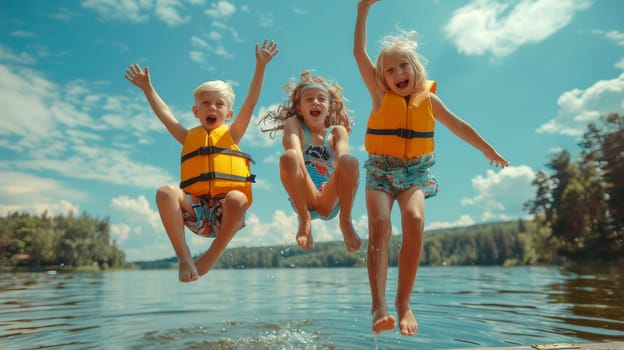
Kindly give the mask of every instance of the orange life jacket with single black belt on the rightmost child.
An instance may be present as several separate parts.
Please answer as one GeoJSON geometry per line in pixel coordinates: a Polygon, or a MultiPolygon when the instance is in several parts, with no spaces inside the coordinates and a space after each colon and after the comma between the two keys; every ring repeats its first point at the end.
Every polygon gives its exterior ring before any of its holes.
{"type": "MultiPolygon", "coordinates": [[[[426,89],[436,91],[436,82],[428,80],[426,89]]],[[[413,158],[434,150],[435,120],[431,99],[425,94],[405,97],[386,92],[377,113],[368,119],[364,146],[369,153],[413,158]]]]}

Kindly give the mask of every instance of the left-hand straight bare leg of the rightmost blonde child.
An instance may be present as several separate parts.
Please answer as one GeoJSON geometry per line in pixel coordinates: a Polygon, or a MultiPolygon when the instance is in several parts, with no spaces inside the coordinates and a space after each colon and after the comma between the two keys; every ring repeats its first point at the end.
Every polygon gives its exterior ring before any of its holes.
{"type": "Polygon", "coordinates": [[[383,191],[366,190],[368,208],[368,280],[371,288],[373,332],[394,329],[395,319],[386,305],[386,279],[388,274],[388,242],[392,227],[390,212],[392,197],[383,191]]]}

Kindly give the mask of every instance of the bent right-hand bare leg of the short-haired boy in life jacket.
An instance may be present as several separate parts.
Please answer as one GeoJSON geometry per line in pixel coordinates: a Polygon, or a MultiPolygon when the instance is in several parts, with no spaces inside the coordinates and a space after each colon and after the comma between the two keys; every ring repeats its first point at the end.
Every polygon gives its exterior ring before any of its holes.
{"type": "Polygon", "coordinates": [[[247,211],[247,197],[240,191],[230,191],[223,199],[221,229],[210,248],[195,262],[200,276],[205,275],[217,262],[234,234],[243,226],[247,211]]]}

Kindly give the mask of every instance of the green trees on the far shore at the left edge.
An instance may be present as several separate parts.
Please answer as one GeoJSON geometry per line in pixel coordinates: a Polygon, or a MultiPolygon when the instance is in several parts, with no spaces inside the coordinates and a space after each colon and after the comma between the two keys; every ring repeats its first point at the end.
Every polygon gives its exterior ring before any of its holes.
{"type": "Polygon", "coordinates": [[[83,214],[0,217],[0,268],[119,268],[125,253],[110,240],[108,219],[83,214]]]}

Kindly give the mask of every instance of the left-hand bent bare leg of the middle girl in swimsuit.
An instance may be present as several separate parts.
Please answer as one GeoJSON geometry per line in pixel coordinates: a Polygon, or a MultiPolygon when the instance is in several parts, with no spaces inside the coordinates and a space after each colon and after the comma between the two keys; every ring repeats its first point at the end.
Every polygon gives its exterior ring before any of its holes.
{"type": "MultiPolygon", "coordinates": [[[[307,198],[311,196],[307,172],[295,151],[288,150],[280,158],[280,177],[282,184],[295,207],[299,219],[297,244],[303,249],[312,249],[312,218],[308,209],[307,198]]],[[[311,180],[310,180],[311,182],[311,180]]],[[[316,189],[314,189],[316,191],[316,189]]],[[[315,194],[315,193],[314,193],[315,194]]]]}

